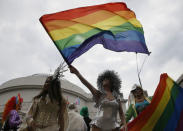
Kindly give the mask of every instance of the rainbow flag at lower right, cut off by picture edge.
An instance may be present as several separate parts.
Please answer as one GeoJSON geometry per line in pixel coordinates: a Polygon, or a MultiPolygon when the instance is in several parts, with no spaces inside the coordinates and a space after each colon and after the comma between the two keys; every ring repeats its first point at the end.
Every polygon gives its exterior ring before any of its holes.
{"type": "Polygon", "coordinates": [[[151,104],[128,124],[128,131],[183,131],[183,88],[162,74],[151,104]]]}

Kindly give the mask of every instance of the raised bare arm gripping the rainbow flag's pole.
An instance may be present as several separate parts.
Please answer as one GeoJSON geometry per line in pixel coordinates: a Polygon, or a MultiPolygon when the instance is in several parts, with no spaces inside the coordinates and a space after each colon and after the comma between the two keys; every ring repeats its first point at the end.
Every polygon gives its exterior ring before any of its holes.
{"type": "Polygon", "coordinates": [[[80,81],[90,90],[90,92],[93,94],[93,95],[96,95],[98,94],[98,91],[97,89],[95,89],[80,73],[79,71],[72,65],[69,66],[69,69],[70,69],[70,72],[75,74],[79,79],[80,81]]]}

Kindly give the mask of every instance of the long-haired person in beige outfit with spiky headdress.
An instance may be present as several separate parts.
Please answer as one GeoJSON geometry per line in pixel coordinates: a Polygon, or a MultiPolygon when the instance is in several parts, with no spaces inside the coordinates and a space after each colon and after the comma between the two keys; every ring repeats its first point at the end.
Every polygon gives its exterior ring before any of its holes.
{"type": "Polygon", "coordinates": [[[66,131],[67,101],[62,96],[60,76],[60,68],[57,68],[54,75],[46,79],[42,91],[33,98],[25,128],[31,131],[66,131]]]}

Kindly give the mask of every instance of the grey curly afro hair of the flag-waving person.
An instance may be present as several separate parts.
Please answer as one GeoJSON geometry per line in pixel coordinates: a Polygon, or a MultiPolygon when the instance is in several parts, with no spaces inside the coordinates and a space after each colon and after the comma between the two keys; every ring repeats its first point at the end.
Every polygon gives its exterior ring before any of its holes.
{"type": "Polygon", "coordinates": [[[119,78],[119,75],[117,72],[113,70],[106,70],[103,73],[99,74],[97,78],[97,87],[100,91],[104,91],[102,87],[102,82],[104,80],[109,80],[111,84],[111,92],[115,91],[116,93],[120,93],[121,88],[121,79],[119,78]]]}

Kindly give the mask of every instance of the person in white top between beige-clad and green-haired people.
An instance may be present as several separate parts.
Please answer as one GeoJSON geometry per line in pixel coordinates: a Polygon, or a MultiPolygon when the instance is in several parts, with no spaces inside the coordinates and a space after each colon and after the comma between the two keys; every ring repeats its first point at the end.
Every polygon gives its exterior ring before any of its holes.
{"type": "Polygon", "coordinates": [[[87,126],[74,103],[69,105],[69,126],[67,131],[87,131],[87,126]]]}

